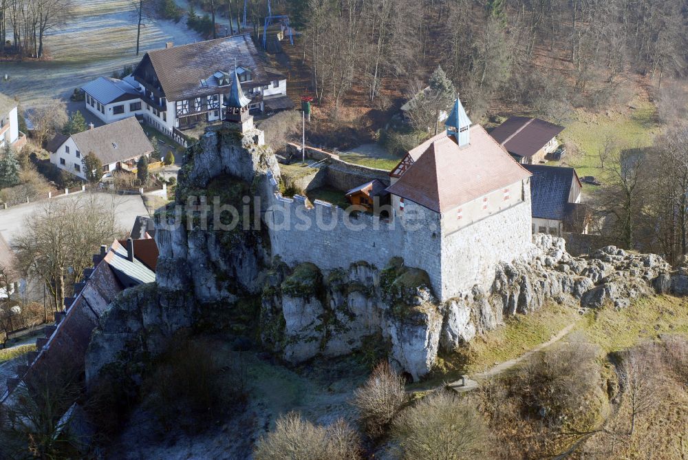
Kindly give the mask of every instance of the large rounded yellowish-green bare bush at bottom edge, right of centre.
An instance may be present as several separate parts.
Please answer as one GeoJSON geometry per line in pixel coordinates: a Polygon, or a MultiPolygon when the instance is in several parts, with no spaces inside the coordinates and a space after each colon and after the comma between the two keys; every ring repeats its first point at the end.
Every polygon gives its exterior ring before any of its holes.
{"type": "Polygon", "coordinates": [[[442,391],[424,397],[394,421],[393,436],[404,459],[480,459],[489,431],[475,401],[442,391]]]}

